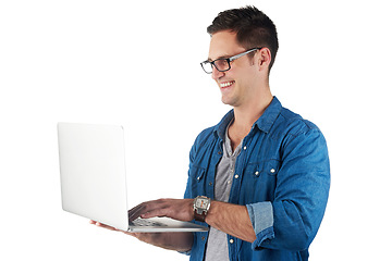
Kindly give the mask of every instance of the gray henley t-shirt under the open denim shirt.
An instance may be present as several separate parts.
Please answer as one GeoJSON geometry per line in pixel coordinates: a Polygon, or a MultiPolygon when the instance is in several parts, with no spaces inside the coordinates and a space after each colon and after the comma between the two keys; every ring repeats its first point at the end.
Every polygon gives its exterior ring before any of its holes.
{"type": "MultiPolygon", "coordinates": [[[[233,183],[233,176],[235,172],[235,161],[241,152],[242,141],[238,147],[232,152],[228,129],[231,123],[228,125],[225,132],[225,139],[223,142],[223,154],[220,160],[215,183],[215,200],[228,202],[230,197],[230,190],[233,183]]],[[[228,247],[228,234],[220,232],[213,227],[209,231],[206,261],[228,260],[229,261],[229,247],[228,247]]]]}

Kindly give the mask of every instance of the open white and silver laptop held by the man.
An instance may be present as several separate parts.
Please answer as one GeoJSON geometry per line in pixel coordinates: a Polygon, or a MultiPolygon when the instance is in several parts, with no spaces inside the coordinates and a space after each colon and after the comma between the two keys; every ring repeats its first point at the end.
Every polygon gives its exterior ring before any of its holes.
{"type": "Polygon", "coordinates": [[[58,123],[58,138],[64,211],[135,233],[208,231],[168,217],[128,222],[122,126],[58,123]]]}

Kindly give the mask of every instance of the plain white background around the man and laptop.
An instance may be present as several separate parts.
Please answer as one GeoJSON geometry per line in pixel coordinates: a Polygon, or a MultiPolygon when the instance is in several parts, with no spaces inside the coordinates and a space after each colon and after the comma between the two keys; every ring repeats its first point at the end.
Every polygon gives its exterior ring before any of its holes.
{"type": "Polygon", "coordinates": [[[181,198],[196,135],[230,109],[199,65],[206,27],[245,4],[278,27],[272,92],[328,140],[310,260],[391,260],[392,18],[378,0],[1,1],[1,260],[187,260],[62,211],[57,122],[123,125],[127,169],[150,182],[128,178],[130,199],[181,198]]]}

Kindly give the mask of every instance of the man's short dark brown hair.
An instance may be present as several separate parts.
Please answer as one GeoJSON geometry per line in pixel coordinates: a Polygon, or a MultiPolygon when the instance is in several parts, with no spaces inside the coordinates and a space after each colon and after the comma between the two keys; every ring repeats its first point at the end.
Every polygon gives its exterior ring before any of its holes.
{"type": "Polygon", "coordinates": [[[221,30],[235,32],[237,42],[246,49],[267,47],[271,51],[269,69],[272,67],[279,48],[278,33],[264,12],[249,5],[220,12],[207,27],[207,33],[213,35],[221,30]]]}

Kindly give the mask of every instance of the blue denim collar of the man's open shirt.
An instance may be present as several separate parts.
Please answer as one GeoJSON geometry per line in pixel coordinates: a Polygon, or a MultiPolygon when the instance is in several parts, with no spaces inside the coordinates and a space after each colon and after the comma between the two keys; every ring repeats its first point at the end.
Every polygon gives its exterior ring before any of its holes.
{"type": "MultiPolygon", "coordinates": [[[[268,133],[278,115],[282,110],[282,104],[278,100],[277,97],[273,97],[271,103],[267,107],[266,111],[254,123],[254,127],[258,127],[260,130],[268,133]]],[[[224,134],[228,125],[234,117],[234,110],[230,110],[222,120],[218,123],[218,125],[213,128],[213,133],[224,140],[224,134]]]]}

